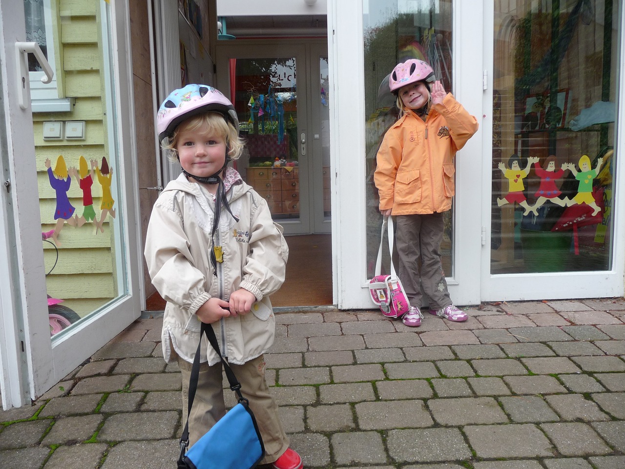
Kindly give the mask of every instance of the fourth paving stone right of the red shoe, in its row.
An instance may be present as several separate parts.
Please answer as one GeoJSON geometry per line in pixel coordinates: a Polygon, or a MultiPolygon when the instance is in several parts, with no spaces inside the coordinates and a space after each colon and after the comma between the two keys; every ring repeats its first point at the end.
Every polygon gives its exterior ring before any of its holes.
{"type": "Polygon", "coordinates": [[[479,458],[536,458],[553,454],[549,440],[531,423],[465,426],[464,433],[479,458]]]}

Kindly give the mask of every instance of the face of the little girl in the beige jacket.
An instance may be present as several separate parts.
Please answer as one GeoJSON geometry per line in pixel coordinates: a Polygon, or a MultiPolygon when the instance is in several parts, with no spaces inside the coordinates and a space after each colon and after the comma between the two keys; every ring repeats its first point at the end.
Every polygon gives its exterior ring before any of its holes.
{"type": "Polygon", "coordinates": [[[226,161],[226,140],[209,131],[182,129],[176,150],[183,169],[202,178],[217,173],[226,161]]]}

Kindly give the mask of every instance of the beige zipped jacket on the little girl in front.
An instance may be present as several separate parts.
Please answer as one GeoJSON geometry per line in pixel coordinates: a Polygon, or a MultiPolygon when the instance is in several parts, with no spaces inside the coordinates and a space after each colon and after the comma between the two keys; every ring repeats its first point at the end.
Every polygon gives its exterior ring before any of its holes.
{"type": "MultiPolygon", "coordinates": [[[[242,364],[265,353],[274,341],[276,321],[268,295],[284,281],[289,249],[282,227],[272,221],[266,201],[246,183],[232,186],[227,198],[239,221],[222,207],[215,233],[215,244],[223,250],[217,276],[209,258],[215,209],[211,194],[181,174],[154,204],[145,256],[152,283],[167,301],[163,355],[168,362],[176,355],[193,361],[201,327],[197,309],[213,296],[227,301],[238,288],[251,291],[257,301],[249,314],[213,323],[222,355],[242,364]]],[[[201,361],[214,365],[219,356],[203,340],[207,355],[202,353],[201,361]]]]}

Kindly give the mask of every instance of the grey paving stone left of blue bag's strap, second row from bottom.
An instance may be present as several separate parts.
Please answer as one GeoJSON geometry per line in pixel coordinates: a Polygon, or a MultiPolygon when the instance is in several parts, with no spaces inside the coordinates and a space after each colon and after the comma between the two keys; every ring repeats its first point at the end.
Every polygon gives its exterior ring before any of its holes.
{"type": "Polygon", "coordinates": [[[98,441],[164,440],[174,438],[178,412],[133,412],[111,415],[98,433],[98,441]]]}

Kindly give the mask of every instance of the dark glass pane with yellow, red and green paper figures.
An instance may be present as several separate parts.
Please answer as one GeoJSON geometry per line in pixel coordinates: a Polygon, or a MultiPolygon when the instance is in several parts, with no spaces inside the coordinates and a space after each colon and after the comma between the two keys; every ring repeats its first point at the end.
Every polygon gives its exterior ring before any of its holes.
{"type": "Polygon", "coordinates": [[[494,5],[491,273],[609,270],[619,3],[494,5]]]}

